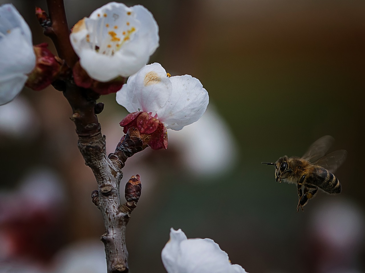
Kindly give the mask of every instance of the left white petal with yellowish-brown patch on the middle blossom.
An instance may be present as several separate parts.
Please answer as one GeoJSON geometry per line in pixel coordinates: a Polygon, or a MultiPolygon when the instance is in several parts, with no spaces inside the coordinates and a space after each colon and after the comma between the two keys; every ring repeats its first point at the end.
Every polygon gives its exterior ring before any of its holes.
{"type": "Polygon", "coordinates": [[[165,69],[161,64],[153,63],[128,78],[117,92],[116,100],[128,111],[156,112],[165,106],[171,92],[172,84],[165,69]]]}

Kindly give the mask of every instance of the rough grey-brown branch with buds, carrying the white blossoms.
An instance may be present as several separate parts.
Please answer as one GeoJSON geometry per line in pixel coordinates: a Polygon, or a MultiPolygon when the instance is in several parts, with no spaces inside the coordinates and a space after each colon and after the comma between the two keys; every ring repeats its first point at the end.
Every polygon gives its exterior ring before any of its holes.
{"type": "MultiPolygon", "coordinates": [[[[66,61],[71,70],[78,58],[69,41],[63,0],[47,0],[47,5],[49,17],[42,11],[38,12],[42,16],[41,25],[45,35],[53,40],[58,56],[66,61]]],[[[119,185],[123,177],[124,162],[141,151],[143,143],[140,138],[127,134],[118,143],[115,153],[108,157],[105,137],[101,134],[101,126],[96,116],[103,110],[103,106],[96,103],[99,95],[76,86],[71,75],[70,72],[64,73],[53,86],[64,93],[72,107],[70,119],[76,125],[78,149],[96,178],[98,190],[93,191],[92,201],[100,209],[104,219],[105,233],[101,236],[101,241],[105,245],[108,273],[128,272],[125,231],[130,213],[141,195],[139,175],[128,181],[125,191],[127,202],[123,205],[120,203],[119,185]]]]}

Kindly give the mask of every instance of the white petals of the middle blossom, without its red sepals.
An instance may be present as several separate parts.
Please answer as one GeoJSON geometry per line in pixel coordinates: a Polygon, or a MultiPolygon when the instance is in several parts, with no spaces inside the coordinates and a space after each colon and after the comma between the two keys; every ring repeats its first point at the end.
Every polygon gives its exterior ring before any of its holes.
{"type": "Polygon", "coordinates": [[[129,112],[152,112],[166,128],[181,130],[196,122],[207,109],[207,90],[190,75],[172,76],[159,63],[148,64],[130,76],[116,93],[129,112]]]}

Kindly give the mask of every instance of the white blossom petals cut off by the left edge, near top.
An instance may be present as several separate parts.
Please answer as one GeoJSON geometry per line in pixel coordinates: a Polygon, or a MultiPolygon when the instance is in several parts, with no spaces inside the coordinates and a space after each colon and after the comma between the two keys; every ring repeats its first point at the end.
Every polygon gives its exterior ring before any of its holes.
{"type": "Polygon", "coordinates": [[[22,91],[35,59],[27,23],[12,4],[0,6],[0,105],[22,91]]]}

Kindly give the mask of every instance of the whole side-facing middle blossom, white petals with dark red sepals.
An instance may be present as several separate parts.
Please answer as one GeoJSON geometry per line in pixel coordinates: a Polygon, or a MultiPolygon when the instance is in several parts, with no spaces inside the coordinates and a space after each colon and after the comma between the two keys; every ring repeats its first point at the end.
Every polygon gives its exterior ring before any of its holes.
{"type": "Polygon", "coordinates": [[[137,127],[141,134],[150,135],[153,146],[148,144],[157,150],[167,148],[166,128],[181,130],[201,118],[209,96],[198,79],[170,77],[161,64],[153,63],[128,78],[116,101],[131,112],[120,122],[124,133],[137,127]]]}

